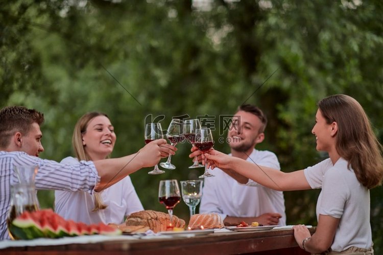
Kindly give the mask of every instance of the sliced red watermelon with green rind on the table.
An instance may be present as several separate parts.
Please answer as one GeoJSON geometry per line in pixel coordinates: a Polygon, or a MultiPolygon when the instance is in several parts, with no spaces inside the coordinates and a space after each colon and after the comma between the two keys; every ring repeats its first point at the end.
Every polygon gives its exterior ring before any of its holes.
{"type": "Polygon", "coordinates": [[[9,231],[14,239],[29,240],[40,237],[60,238],[81,235],[120,235],[121,230],[103,223],[86,225],[83,222],[65,220],[51,209],[24,212],[12,222],[9,231]]]}

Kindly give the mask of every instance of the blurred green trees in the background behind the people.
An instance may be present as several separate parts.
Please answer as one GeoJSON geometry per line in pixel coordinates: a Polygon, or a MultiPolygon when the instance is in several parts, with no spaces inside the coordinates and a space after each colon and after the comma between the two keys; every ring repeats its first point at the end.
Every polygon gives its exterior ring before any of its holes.
{"type": "MultiPolygon", "coordinates": [[[[148,114],[213,117],[242,103],[269,118],[266,141],[283,171],[316,164],[311,134],[316,103],[332,94],[358,100],[383,138],[383,3],[342,1],[53,1],[0,4],[0,106],[45,114],[43,158],[71,155],[77,119],[107,113],[115,126],[113,156],[143,146],[148,114]]],[[[211,119],[211,118],[210,118],[211,119]]],[[[221,128],[222,129],[222,128],[221,128]]],[[[194,179],[190,145],[177,146],[174,171],[131,175],[146,209],[158,203],[161,179],[194,179]]],[[[214,148],[228,152],[228,146],[214,148]]],[[[39,192],[41,207],[52,192],[39,192]]],[[[382,252],[382,188],[371,190],[374,248],[382,252]]],[[[285,192],[288,224],[316,225],[319,191],[285,192]]],[[[181,202],[175,214],[188,220],[181,202]]]]}

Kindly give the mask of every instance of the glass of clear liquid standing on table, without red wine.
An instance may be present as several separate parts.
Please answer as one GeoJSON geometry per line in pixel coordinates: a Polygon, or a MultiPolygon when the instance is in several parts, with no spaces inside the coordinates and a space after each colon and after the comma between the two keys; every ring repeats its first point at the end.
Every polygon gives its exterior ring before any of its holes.
{"type": "Polygon", "coordinates": [[[196,214],[196,206],[201,201],[203,180],[182,180],[182,199],[189,206],[190,218],[196,214]]]}

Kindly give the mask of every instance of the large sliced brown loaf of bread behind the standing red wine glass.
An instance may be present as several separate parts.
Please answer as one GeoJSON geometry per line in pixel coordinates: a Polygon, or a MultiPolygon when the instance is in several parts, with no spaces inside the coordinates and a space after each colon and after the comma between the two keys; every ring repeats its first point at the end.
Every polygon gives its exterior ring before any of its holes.
{"type": "MultiPolygon", "coordinates": [[[[172,217],[174,227],[185,227],[185,221],[179,219],[177,216],[172,217]]],[[[162,212],[156,212],[152,210],[145,210],[136,213],[132,213],[125,220],[127,226],[148,226],[155,233],[159,231],[166,231],[166,227],[170,225],[169,214],[162,212]]]]}

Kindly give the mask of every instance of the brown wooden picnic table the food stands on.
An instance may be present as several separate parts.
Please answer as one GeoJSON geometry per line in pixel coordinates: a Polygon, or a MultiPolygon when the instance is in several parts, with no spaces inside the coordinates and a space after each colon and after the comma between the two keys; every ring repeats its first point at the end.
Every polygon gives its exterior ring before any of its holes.
{"type": "MultiPolygon", "coordinates": [[[[315,228],[310,228],[313,234],[315,228]]],[[[30,246],[7,248],[1,254],[268,254],[303,255],[295,242],[293,230],[266,230],[255,232],[223,232],[206,236],[174,237],[172,239],[138,239],[108,241],[95,244],[67,244],[57,246],[30,246]]]]}

